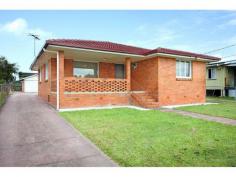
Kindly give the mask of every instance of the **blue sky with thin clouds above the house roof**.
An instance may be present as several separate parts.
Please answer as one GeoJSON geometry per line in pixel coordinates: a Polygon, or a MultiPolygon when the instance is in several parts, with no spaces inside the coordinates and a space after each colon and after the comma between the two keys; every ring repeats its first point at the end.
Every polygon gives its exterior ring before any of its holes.
{"type": "MultiPolygon", "coordinates": [[[[28,32],[41,37],[37,52],[46,39],[75,38],[204,53],[236,44],[236,11],[0,11],[0,55],[21,71],[34,59],[28,32]]],[[[212,53],[233,54],[236,47],[212,53]]]]}

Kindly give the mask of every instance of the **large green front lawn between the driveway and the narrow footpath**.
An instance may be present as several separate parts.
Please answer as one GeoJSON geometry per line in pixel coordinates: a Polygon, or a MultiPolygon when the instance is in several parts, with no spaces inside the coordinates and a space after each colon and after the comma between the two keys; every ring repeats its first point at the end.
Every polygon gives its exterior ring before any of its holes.
{"type": "Polygon", "coordinates": [[[236,166],[236,127],[135,109],[60,113],[121,166],[236,166]]]}

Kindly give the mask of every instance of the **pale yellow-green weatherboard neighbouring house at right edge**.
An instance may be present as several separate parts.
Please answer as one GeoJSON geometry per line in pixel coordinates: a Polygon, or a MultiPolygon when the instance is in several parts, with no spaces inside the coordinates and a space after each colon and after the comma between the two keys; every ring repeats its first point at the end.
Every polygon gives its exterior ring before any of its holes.
{"type": "Polygon", "coordinates": [[[236,97],[236,60],[209,63],[206,80],[207,95],[236,97]]]}

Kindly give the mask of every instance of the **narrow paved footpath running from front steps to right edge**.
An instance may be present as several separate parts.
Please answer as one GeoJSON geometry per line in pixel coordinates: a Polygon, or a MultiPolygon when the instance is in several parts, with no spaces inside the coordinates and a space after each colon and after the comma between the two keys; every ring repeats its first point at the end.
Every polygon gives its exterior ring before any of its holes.
{"type": "Polygon", "coordinates": [[[236,125],[236,120],[234,119],[228,119],[224,117],[215,117],[215,116],[209,116],[205,114],[199,114],[199,113],[194,113],[194,112],[188,112],[188,111],[182,111],[182,110],[177,110],[177,109],[160,109],[160,111],[163,112],[175,112],[177,114],[181,114],[184,116],[190,116],[193,118],[197,119],[203,119],[203,120],[208,120],[208,121],[213,121],[213,122],[219,122],[227,125],[236,125]]]}

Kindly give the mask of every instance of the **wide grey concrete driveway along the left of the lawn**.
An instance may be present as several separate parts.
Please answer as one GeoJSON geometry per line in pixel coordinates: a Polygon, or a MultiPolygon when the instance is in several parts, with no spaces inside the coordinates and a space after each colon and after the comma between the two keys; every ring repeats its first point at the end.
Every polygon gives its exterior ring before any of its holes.
{"type": "Polygon", "coordinates": [[[0,166],[117,166],[37,95],[15,93],[0,110],[0,166]]]}

